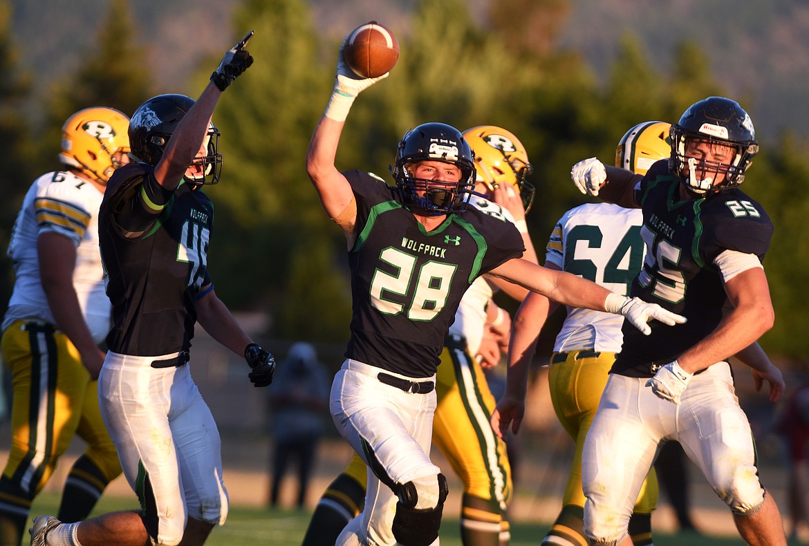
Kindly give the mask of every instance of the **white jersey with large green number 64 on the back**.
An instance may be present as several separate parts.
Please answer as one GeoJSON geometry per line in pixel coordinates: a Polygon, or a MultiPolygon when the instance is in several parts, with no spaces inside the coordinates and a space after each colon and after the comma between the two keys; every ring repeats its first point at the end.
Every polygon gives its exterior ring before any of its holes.
{"type": "MultiPolygon", "coordinates": [[[[579,205],[568,210],[553,227],[545,264],[556,265],[618,294],[629,294],[643,263],[642,223],[640,209],[610,203],[579,205]]],[[[623,324],[621,315],[568,307],[553,350],[618,353],[623,324]]]]}

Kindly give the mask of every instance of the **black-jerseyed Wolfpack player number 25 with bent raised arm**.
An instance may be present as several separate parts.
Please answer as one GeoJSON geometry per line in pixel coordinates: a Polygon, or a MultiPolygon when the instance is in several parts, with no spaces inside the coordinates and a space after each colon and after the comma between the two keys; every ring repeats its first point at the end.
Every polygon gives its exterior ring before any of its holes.
{"type": "MultiPolygon", "coordinates": [[[[773,224],[739,189],[759,150],[755,130],[738,103],[711,96],[690,106],[670,137],[670,159],[646,176],[595,158],[571,171],[582,193],[642,209],[646,256],[631,294],[688,317],[665,331],[653,325],[649,336],[624,325],[584,444],[584,531],[595,544],[629,544],[629,514],[659,444],[677,440],[748,544],[786,544],[728,363],[756,348],[774,320],[761,265],[773,224]]],[[[777,401],[781,371],[766,358],[746,363],[777,401]]]]}

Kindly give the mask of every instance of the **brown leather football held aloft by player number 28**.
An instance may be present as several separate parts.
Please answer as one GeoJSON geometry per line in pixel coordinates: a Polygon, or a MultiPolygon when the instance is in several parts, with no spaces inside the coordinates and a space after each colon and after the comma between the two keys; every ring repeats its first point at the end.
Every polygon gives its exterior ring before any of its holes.
{"type": "Polygon", "coordinates": [[[361,78],[379,78],[399,59],[399,42],[391,30],[376,21],[355,28],[345,39],[345,63],[361,78]]]}

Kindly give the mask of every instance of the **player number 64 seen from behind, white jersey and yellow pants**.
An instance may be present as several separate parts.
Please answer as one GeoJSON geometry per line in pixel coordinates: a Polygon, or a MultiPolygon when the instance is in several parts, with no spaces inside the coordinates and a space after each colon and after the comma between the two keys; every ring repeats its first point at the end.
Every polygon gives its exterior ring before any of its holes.
{"type": "MultiPolygon", "coordinates": [[[[646,121],[629,129],[616,147],[616,167],[646,174],[652,163],[671,154],[670,128],[670,124],[662,121],[646,121]]],[[[553,227],[545,267],[581,275],[610,290],[628,294],[643,260],[641,225],[642,214],[637,209],[611,203],[579,205],[565,212],[553,227]]],[[[504,426],[502,434],[510,416],[517,420],[522,417],[524,398],[514,396],[511,389],[527,381],[537,336],[556,308],[556,303],[532,293],[515,315],[506,379],[510,388],[495,409],[494,425],[504,426]]],[[[582,448],[609,369],[621,350],[623,322],[620,316],[601,311],[569,308],[557,334],[548,375],[551,402],[576,448],[561,511],[542,544],[587,544],[583,528],[582,448]]],[[[524,389],[521,387],[519,392],[524,389]]],[[[652,470],[629,519],[629,534],[636,546],[652,544],[651,513],[657,499],[658,482],[652,470]]]]}

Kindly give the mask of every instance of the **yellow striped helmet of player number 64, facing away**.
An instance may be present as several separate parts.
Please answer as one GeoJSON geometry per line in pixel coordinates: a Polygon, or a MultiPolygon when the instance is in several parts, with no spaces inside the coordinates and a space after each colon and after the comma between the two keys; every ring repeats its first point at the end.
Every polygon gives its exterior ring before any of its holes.
{"type": "Polygon", "coordinates": [[[615,166],[645,175],[652,163],[671,155],[670,123],[644,121],[629,129],[615,149],[615,166]]]}

